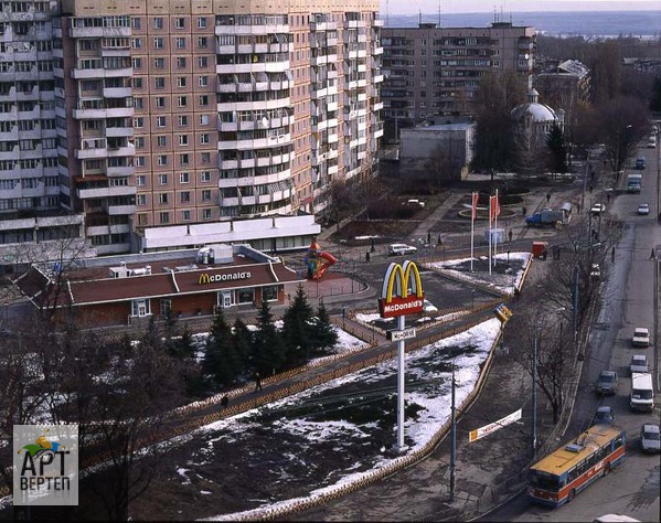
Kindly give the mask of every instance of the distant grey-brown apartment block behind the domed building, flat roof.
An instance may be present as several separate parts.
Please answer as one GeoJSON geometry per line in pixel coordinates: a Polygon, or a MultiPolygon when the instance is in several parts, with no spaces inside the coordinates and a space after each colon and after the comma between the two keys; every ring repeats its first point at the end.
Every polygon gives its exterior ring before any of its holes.
{"type": "Polygon", "coordinates": [[[494,22],[489,28],[384,28],[381,92],[384,117],[418,122],[430,115],[473,113],[480,78],[490,71],[533,73],[535,31],[494,22]]]}

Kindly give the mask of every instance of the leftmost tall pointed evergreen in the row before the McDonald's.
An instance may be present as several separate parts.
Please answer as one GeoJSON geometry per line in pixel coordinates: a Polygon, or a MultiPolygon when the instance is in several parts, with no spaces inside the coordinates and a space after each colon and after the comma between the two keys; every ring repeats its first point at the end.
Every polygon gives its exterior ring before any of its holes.
{"type": "Polygon", "coordinates": [[[236,378],[238,369],[232,331],[223,309],[218,308],[206,339],[202,370],[204,374],[212,376],[216,385],[227,386],[236,378]]]}

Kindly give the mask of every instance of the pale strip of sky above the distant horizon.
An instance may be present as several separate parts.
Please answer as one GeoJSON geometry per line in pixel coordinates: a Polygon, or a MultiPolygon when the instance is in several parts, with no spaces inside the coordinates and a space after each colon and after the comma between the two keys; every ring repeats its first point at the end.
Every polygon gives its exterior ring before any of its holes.
{"type": "MultiPolygon", "coordinates": [[[[523,12],[523,11],[659,11],[659,0],[387,0],[390,14],[467,12],[523,12]]],[[[381,0],[381,11],[386,11],[386,0],[381,0]]]]}

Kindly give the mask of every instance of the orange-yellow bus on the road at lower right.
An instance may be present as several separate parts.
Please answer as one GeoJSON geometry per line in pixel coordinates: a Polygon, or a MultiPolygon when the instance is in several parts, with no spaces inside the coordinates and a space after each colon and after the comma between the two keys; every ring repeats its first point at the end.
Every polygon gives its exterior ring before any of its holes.
{"type": "Polygon", "coordinates": [[[626,433],[612,425],[595,425],[575,440],[530,468],[527,498],[559,506],[625,459],[626,433]]]}

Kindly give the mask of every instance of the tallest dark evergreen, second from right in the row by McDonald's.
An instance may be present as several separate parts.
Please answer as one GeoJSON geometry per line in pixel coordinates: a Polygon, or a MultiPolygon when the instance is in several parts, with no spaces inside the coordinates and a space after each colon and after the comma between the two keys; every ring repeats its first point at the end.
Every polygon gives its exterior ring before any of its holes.
{"type": "Polygon", "coordinates": [[[286,346],[286,363],[296,366],[310,357],[314,345],[313,310],[303,290],[298,286],[294,301],[282,317],[282,340],[286,346]]]}

